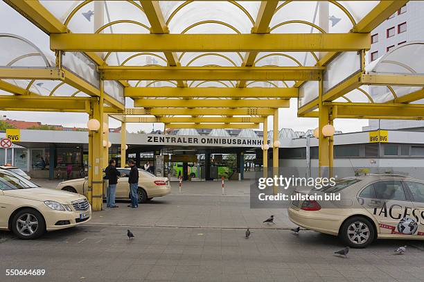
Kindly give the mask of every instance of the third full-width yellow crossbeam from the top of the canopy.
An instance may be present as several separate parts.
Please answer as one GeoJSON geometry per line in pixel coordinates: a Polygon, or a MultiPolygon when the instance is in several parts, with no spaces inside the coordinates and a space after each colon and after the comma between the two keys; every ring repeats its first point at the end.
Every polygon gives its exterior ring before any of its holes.
{"type": "Polygon", "coordinates": [[[270,87],[125,87],[125,97],[181,97],[181,98],[297,98],[297,88],[270,87]]]}

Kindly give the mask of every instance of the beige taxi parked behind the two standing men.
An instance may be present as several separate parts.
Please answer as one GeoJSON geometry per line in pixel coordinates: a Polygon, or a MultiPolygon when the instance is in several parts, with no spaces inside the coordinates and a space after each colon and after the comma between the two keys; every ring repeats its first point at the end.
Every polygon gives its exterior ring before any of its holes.
{"type": "MultiPolygon", "coordinates": [[[[128,185],[128,175],[130,168],[116,168],[121,177],[116,185],[116,199],[130,199],[130,186],[128,185]]],[[[87,195],[88,179],[79,178],[60,182],[57,189],[87,195]]],[[[162,197],[168,195],[171,191],[169,179],[166,177],[157,177],[145,170],[139,169],[139,203],[142,204],[154,197],[162,197]]]]}

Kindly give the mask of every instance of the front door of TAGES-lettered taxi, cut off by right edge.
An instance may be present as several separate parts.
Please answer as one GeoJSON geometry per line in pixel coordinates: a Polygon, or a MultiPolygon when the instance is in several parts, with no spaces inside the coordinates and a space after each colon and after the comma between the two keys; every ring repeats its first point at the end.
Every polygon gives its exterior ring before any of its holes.
{"type": "MultiPolygon", "coordinates": [[[[414,211],[412,218],[417,222],[416,232],[414,238],[423,238],[424,236],[424,184],[421,182],[405,181],[407,188],[412,196],[412,204],[414,204],[414,211]]],[[[413,223],[412,223],[413,224],[413,223]]],[[[414,225],[411,225],[414,228],[414,225]]]]}

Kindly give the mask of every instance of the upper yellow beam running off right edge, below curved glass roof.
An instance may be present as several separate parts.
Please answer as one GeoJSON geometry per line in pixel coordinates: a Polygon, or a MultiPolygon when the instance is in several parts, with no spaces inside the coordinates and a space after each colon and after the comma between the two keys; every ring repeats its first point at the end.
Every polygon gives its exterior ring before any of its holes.
{"type": "Polygon", "coordinates": [[[398,85],[398,86],[424,86],[424,76],[409,74],[364,74],[362,75],[364,85],[398,85]]]}

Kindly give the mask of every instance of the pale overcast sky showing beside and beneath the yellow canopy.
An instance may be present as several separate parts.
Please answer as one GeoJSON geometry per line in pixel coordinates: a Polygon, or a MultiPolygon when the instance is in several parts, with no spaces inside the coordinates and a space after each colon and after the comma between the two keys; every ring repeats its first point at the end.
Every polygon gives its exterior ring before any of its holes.
{"type": "MultiPolygon", "coordinates": [[[[25,37],[45,52],[49,50],[48,36],[39,30],[36,26],[19,15],[15,10],[10,8],[3,1],[0,2],[0,33],[12,33],[25,37]]],[[[1,49],[7,49],[8,46],[0,46],[1,49]]],[[[127,107],[132,107],[132,100],[127,98],[127,107]]],[[[64,125],[67,127],[85,127],[88,115],[79,113],[51,113],[51,112],[6,112],[0,111],[0,115],[6,115],[8,118],[23,121],[40,121],[42,123],[64,125]]],[[[272,117],[269,118],[270,128],[272,128],[272,117]]],[[[292,128],[293,130],[306,131],[317,127],[318,120],[316,118],[298,118],[297,117],[297,99],[291,99],[290,109],[279,110],[279,128],[292,128]]],[[[121,123],[109,118],[109,127],[118,127],[121,123]]],[[[342,132],[361,131],[362,126],[368,125],[368,120],[344,119],[336,120],[336,130],[342,132]]],[[[163,123],[138,123],[127,125],[127,130],[136,132],[145,130],[150,132],[154,129],[163,129],[163,123]]]]}

